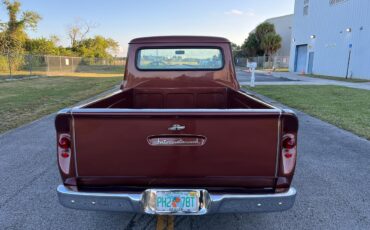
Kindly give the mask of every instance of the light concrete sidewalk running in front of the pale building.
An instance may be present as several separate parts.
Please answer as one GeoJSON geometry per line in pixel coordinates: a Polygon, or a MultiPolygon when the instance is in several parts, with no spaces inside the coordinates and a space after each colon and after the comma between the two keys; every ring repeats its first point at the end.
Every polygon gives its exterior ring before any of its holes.
{"type": "MultiPolygon", "coordinates": [[[[269,74],[267,71],[256,71],[259,74],[269,74]]],[[[291,72],[272,72],[271,76],[278,78],[287,78],[292,81],[287,82],[260,82],[258,85],[338,85],[355,89],[370,90],[370,82],[344,82],[328,79],[313,78],[308,76],[299,75],[291,72]]]]}

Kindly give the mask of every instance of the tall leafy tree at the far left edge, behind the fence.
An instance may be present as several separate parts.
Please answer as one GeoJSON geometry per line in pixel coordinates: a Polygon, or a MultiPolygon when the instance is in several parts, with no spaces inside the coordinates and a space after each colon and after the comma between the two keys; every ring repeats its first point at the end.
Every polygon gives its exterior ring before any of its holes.
{"type": "Polygon", "coordinates": [[[23,43],[27,39],[25,30],[35,29],[41,17],[33,11],[24,11],[19,18],[21,3],[17,0],[13,2],[3,0],[3,4],[7,9],[9,20],[1,24],[0,52],[7,56],[11,77],[12,69],[21,64],[19,55],[23,53],[23,43]]]}

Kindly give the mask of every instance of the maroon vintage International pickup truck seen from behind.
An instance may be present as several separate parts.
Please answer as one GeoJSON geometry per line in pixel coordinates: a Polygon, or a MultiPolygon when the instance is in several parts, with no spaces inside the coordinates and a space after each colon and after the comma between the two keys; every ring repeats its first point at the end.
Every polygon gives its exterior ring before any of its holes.
{"type": "Polygon", "coordinates": [[[243,92],[230,42],[130,42],[121,90],[55,119],[62,205],[201,215],[293,206],[298,120],[243,92]]]}

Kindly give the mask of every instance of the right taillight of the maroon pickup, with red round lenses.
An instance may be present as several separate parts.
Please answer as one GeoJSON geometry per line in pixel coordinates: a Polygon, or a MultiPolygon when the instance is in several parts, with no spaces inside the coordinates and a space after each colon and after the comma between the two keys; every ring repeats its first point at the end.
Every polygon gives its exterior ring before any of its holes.
{"type": "Polygon", "coordinates": [[[295,166],[297,158],[297,140],[292,133],[287,133],[282,139],[282,158],[284,174],[290,174],[295,166]]]}

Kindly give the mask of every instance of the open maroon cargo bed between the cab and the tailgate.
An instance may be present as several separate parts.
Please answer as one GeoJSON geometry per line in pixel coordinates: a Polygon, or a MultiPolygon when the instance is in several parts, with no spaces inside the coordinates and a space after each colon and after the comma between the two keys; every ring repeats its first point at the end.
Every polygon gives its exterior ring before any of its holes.
{"type": "Polygon", "coordinates": [[[224,87],[134,88],[83,108],[111,109],[270,109],[262,101],[224,87]]]}

